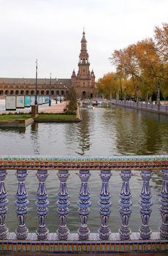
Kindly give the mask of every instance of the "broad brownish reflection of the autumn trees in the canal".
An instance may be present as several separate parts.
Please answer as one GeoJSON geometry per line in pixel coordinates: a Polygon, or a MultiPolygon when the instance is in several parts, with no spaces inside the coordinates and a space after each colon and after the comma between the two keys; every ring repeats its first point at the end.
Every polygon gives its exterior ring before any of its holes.
{"type": "Polygon", "coordinates": [[[121,154],[160,154],[167,151],[168,123],[153,113],[118,109],[117,148],[121,154]]]}

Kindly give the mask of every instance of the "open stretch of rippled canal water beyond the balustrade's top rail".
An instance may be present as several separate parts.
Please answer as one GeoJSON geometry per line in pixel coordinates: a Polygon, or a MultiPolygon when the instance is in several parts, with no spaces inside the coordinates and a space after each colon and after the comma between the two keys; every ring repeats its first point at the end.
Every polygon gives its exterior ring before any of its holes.
{"type": "Polygon", "coordinates": [[[1,128],[0,154],[167,154],[168,116],[116,108],[81,109],[75,124],[1,128]]]}

